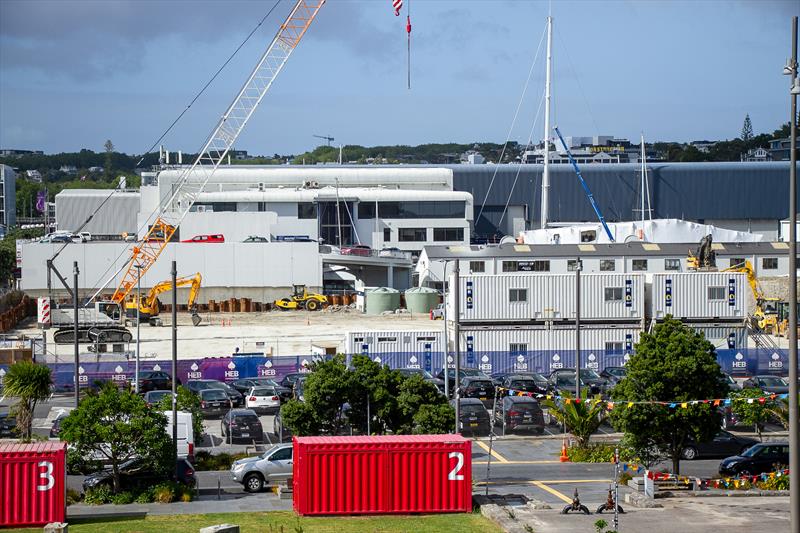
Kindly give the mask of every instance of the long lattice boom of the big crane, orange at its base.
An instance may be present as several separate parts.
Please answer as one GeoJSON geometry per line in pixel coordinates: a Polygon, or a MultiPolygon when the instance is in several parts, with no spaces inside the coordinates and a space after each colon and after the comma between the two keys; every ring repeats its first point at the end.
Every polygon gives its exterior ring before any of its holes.
{"type": "Polygon", "coordinates": [[[198,152],[197,159],[181,173],[173,185],[173,194],[161,202],[153,223],[133,246],[122,279],[112,296],[113,302],[121,306],[140,277],[158,260],[325,1],[297,0],[244,86],[198,152]]]}

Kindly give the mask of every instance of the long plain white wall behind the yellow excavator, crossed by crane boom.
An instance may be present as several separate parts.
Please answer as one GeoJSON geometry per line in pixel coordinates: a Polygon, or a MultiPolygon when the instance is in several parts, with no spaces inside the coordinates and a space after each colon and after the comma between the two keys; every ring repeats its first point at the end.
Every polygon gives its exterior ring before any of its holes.
{"type": "MultiPolygon", "coordinates": [[[[86,243],[67,246],[55,265],[72,283],[72,263],[78,261],[81,292],[97,289],[120,270],[130,257],[129,244],[86,243]]],[[[22,247],[22,290],[31,296],[47,293],[46,260],[57,245],[31,243],[22,247]]],[[[198,301],[209,299],[253,298],[267,302],[286,296],[293,284],[305,284],[318,290],[322,287],[322,259],[317,243],[241,243],[168,244],[158,262],[143,276],[142,289],[170,278],[172,260],[177,261],[178,275],[195,272],[203,275],[198,301]]],[[[121,274],[108,285],[116,288],[121,274]]],[[[53,276],[53,288],[61,284],[53,276]]],[[[94,291],[92,291],[94,292],[94,291]]],[[[186,290],[179,291],[185,300],[186,290]]],[[[55,297],[65,291],[56,290],[55,297]]],[[[165,302],[166,303],[166,302],[165,302]]]]}

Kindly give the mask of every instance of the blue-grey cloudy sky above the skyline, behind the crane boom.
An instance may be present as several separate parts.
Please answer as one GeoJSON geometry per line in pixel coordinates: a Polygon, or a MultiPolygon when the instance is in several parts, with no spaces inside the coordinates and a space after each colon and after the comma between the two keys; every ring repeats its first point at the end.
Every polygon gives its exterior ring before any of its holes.
{"type": "MultiPolygon", "coordinates": [[[[237,148],[502,142],[542,40],[548,3],[328,0],[237,148]]],[[[0,0],[0,147],[149,148],[275,0],[0,0]]],[[[283,0],[167,136],[196,151],[266,48],[283,0]]],[[[724,139],[787,121],[791,16],[800,2],[561,1],[554,121],[565,135],[724,139]]],[[[511,139],[542,137],[539,51],[511,139]]]]}

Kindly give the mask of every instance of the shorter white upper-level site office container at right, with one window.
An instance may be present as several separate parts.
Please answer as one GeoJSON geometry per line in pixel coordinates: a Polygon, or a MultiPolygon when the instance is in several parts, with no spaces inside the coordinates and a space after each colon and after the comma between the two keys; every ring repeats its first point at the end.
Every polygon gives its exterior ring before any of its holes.
{"type": "Polygon", "coordinates": [[[653,274],[652,316],[682,320],[741,320],[749,313],[747,275],[739,272],[653,274]]]}

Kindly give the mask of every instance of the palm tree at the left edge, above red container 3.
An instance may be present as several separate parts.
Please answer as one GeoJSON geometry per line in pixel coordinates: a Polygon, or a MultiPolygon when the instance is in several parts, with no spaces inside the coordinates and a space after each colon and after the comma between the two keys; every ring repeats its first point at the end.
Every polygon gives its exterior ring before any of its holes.
{"type": "Polygon", "coordinates": [[[31,439],[33,410],[38,402],[50,397],[50,369],[30,361],[19,361],[8,367],[3,378],[3,394],[16,398],[13,407],[17,432],[23,440],[31,439]]]}

